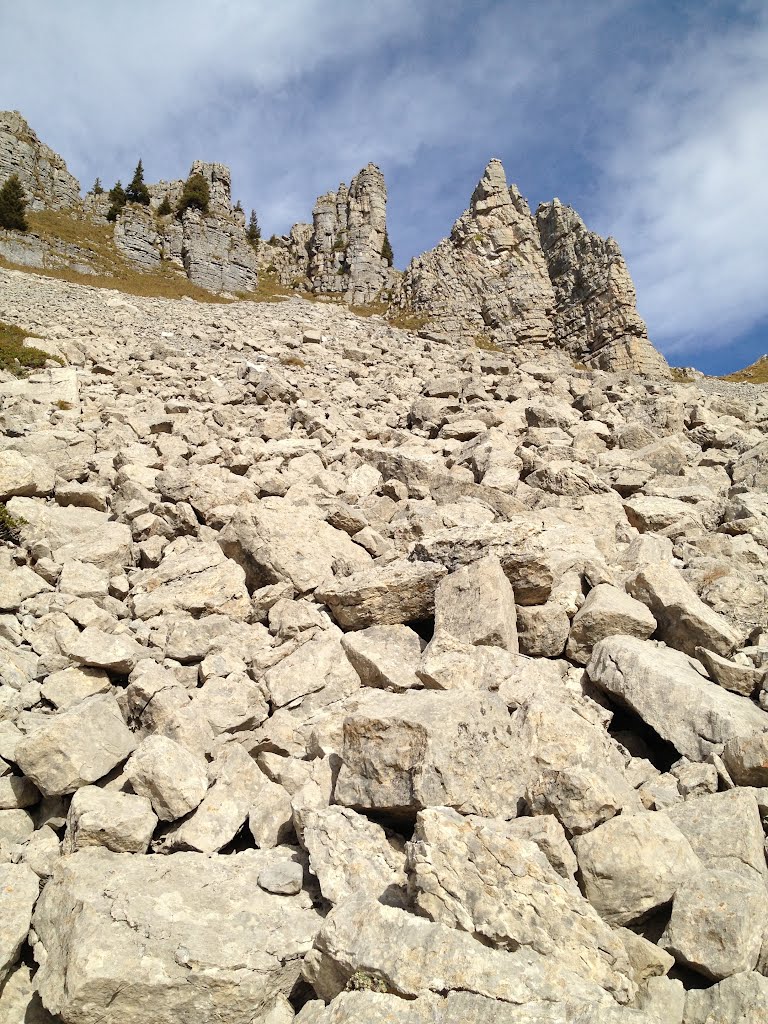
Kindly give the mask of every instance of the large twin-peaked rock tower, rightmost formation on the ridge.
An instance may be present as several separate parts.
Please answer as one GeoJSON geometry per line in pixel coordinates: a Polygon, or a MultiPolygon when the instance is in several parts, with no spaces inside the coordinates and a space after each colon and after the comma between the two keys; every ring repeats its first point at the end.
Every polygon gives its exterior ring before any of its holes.
{"type": "Polygon", "coordinates": [[[555,345],[591,367],[669,374],[616,242],[589,231],[558,200],[534,218],[498,160],[450,238],[411,262],[395,301],[451,337],[555,345]]]}

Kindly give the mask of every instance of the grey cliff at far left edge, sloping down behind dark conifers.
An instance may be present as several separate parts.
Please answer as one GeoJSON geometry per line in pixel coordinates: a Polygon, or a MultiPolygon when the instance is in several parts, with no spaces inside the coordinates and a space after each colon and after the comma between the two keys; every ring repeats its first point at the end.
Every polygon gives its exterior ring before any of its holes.
{"type": "Polygon", "coordinates": [[[17,174],[31,210],[63,210],[80,200],[80,182],[41,142],[17,111],[0,111],[0,183],[17,174]]]}

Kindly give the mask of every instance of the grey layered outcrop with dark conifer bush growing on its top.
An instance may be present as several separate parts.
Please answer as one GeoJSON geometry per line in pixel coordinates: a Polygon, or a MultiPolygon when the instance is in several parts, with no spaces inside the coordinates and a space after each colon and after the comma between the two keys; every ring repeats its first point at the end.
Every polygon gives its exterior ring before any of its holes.
{"type": "Polygon", "coordinates": [[[246,238],[243,212],[231,206],[229,169],[196,161],[189,174],[201,174],[208,182],[208,211],[189,209],[180,218],[160,216],[158,208],[166,197],[176,208],[184,182],[150,185],[150,206],[129,204],[115,222],[117,248],[142,269],[157,269],[166,262],[210,292],[250,291],[257,283],[256,252],[246,238]]]}

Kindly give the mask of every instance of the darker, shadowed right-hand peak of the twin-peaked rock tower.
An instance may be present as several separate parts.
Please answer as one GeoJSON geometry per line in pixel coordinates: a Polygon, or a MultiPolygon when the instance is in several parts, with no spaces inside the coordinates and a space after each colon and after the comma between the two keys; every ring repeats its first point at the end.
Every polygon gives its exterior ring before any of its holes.
{"type": "Polygon", "coordinates": [[[574,359],[620,373],[669,375],[648,340],[635,287],[614,239],[590,231],[569,206],[545,203],[536,215],[555,291],[555,336],[574,359]]]}

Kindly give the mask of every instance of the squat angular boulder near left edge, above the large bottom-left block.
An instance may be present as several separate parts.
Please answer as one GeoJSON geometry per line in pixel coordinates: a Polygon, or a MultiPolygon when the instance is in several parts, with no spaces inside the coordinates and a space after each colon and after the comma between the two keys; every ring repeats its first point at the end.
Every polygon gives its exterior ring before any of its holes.
{"type": "Polygon", "coordinates": [[[57,715],[40,716],[16,745],[15,759],[40,792],[52,797],[102,778],[135,745],[117,700],[103,694],[57,715]]]}

